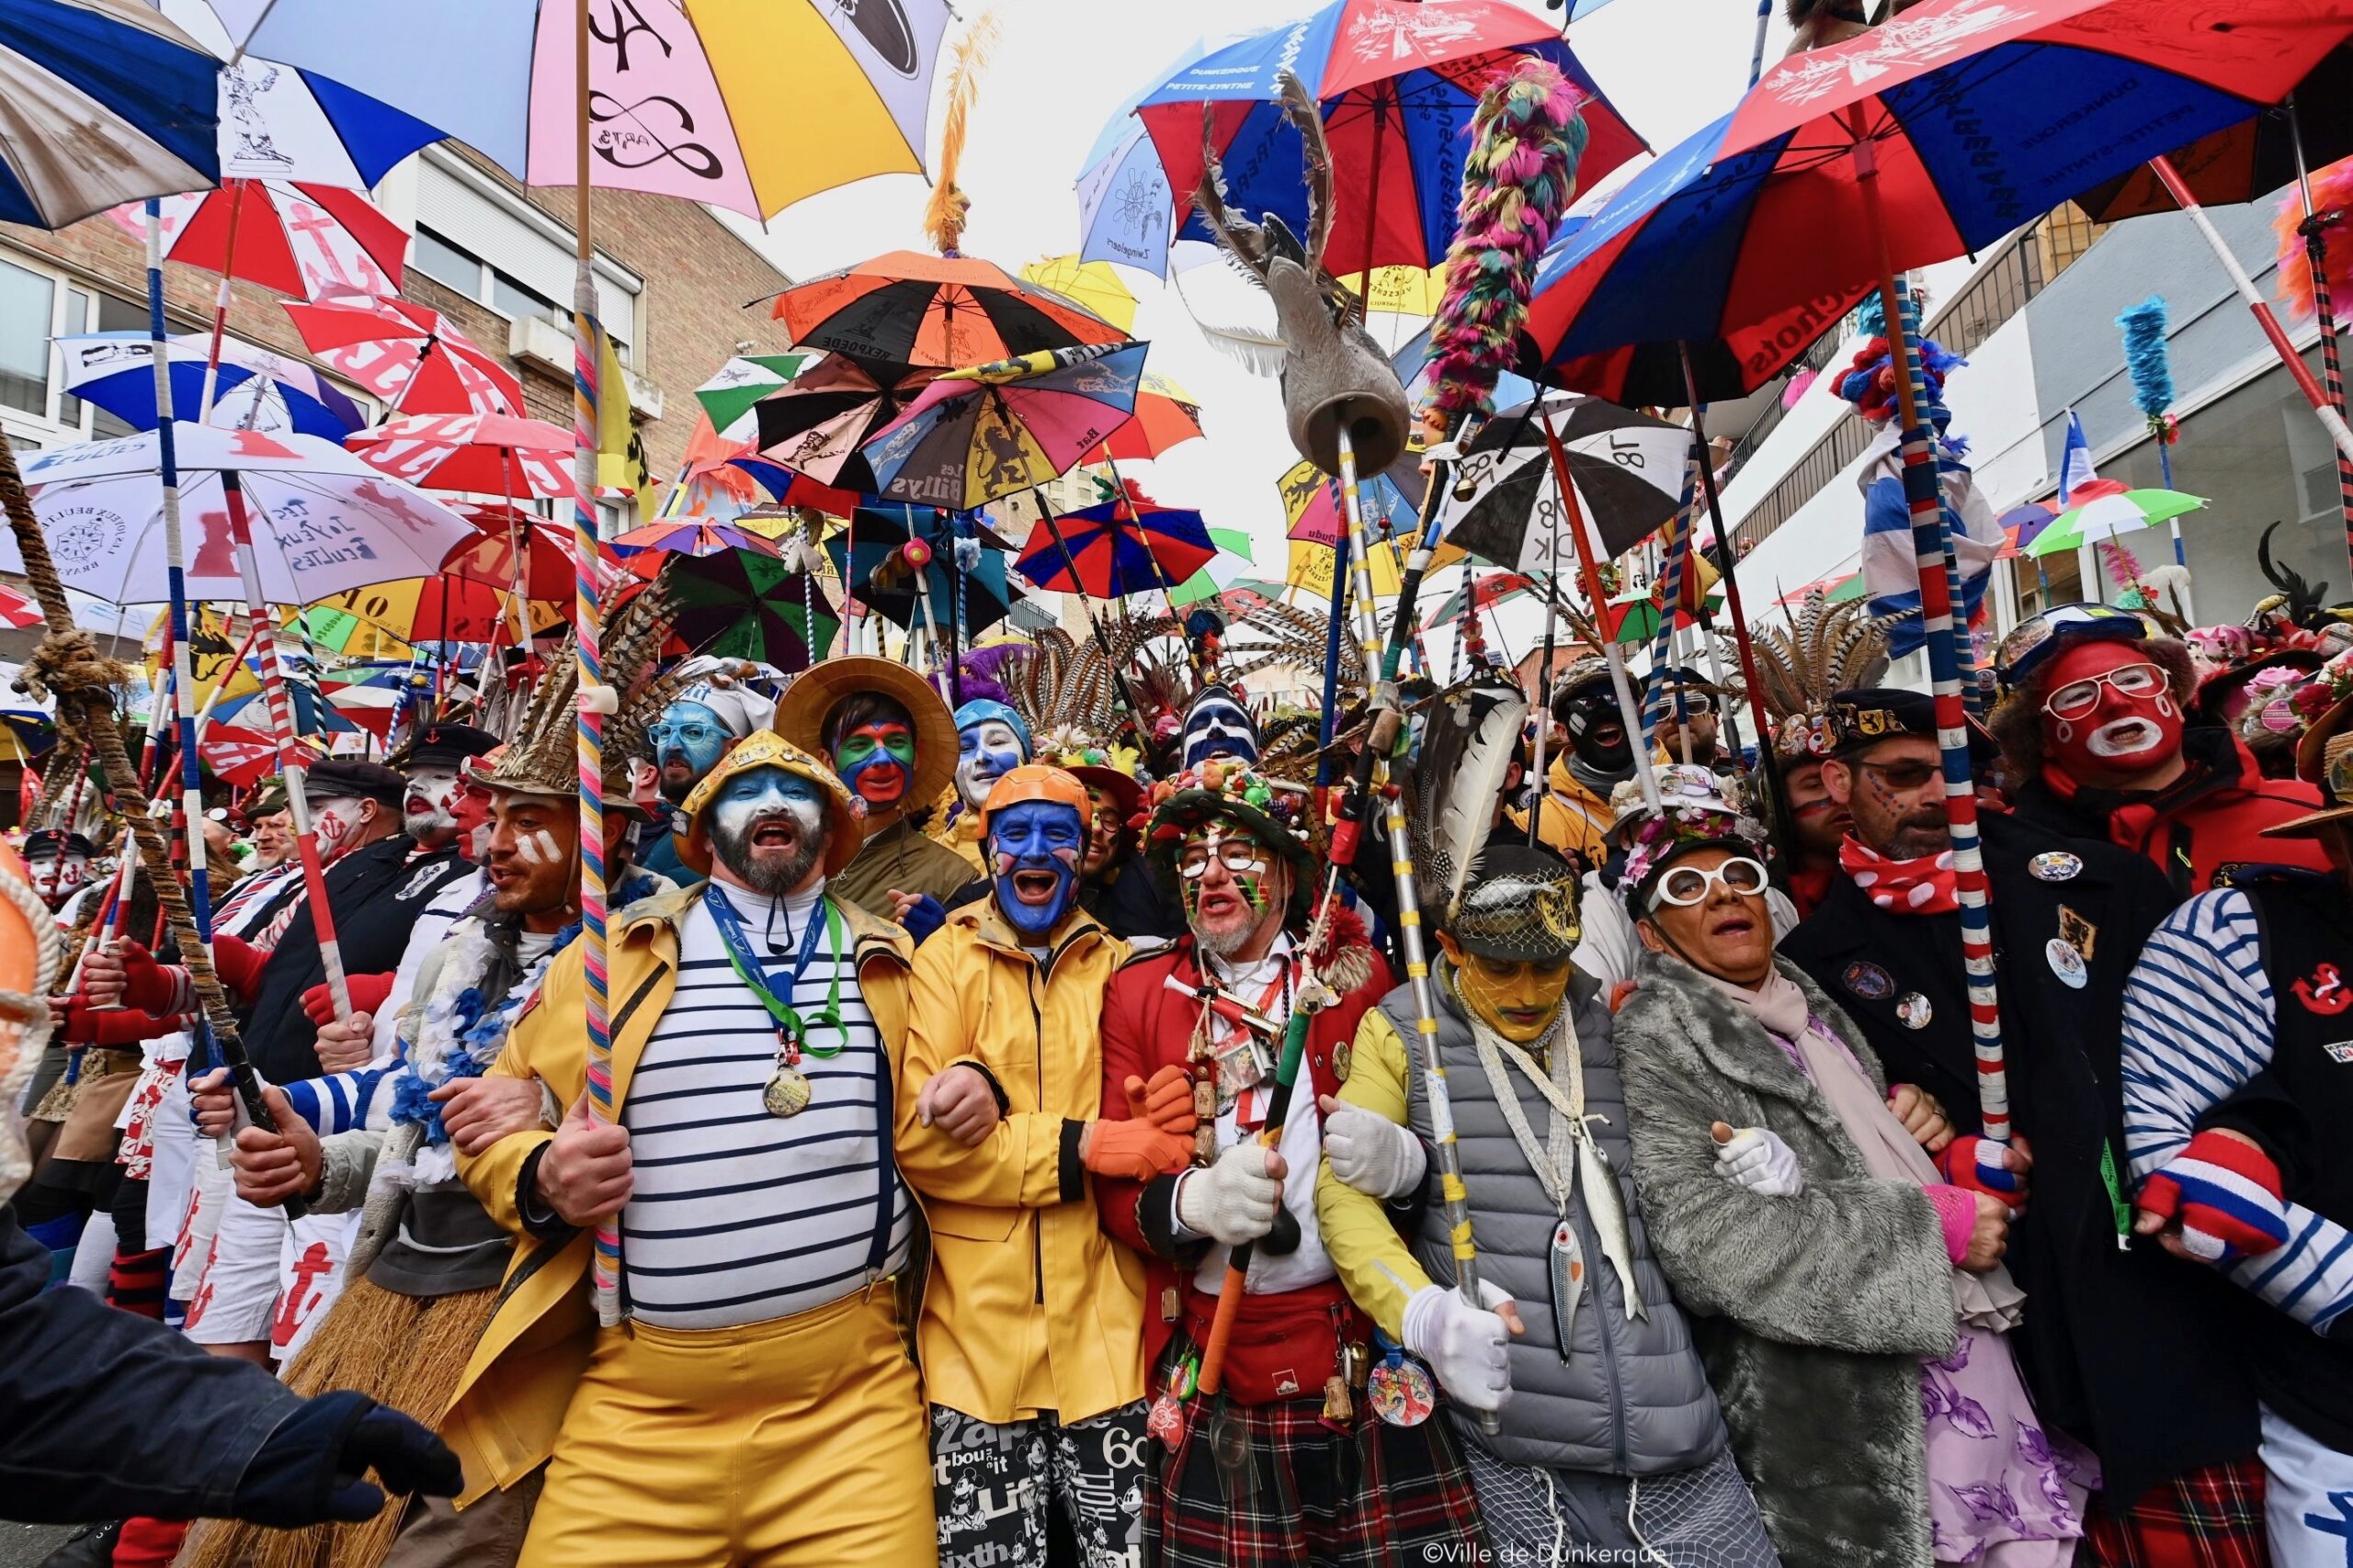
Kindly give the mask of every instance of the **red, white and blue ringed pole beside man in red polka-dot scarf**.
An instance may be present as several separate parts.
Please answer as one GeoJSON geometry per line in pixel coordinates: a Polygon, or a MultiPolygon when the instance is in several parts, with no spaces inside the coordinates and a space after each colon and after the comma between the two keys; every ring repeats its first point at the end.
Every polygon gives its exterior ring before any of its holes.
{"type": "Polygon", "coordinates": [[[1937,480],[1934,437],[1918,393],[1920,357],[1887,256],[1887,223],[1880,205],[1878,158],[1868,139],[1854,141],[1857,183],[1880,263],[1880,306],[1887,315],[1887,348],[1901,355],[1897,416],[1904,421],[1904,501],[1913,520],[1913,559],[1920,574],[1920,628],[1927,635],[1929,684],[1937,696],[1937,745],[1944,750],[1944,813],[1953,835],[1953,882],[1960,893],[1960,961],[1969,980],[1969,1034],[1977,1046],[1977,1105],[1984,1135],[2009,1143],[2009,1072],[2002,1056],[2002,1011],[1993,978],[1993,905],[1986,856],[1977,837],[1977,783],[1969,773],[1969,719],[1960,701],[1960,628],[1953,625],[1951,548],[1946,541],[1944,487],[1937,480]]]}

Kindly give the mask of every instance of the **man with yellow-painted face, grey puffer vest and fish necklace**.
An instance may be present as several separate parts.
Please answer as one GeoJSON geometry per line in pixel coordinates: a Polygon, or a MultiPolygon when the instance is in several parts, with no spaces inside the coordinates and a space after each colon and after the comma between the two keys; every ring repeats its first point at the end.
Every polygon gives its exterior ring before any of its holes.
{"type": "Polygon", "coordinates": [[[1438,929],[1435,1044],[1487,1307],[1464,1300],[1445,1208],[1424,1201],[1438,1124],[1407,1046],[1409,987],[1365,1013],[1329,1103],[1325,1237],[1360,1309],[1419,1359],[1391,1375],[1447,1392],[1431,1427],[1468,1455],[1497,1561],[1777,1568],[1649,1251],[1609,1009],[1569,964],[1577,917],[1569,867],[1499,842],[1438,929]],[[1499,1413],[1492,1432],[1482,1410],[1499,1413]]]}

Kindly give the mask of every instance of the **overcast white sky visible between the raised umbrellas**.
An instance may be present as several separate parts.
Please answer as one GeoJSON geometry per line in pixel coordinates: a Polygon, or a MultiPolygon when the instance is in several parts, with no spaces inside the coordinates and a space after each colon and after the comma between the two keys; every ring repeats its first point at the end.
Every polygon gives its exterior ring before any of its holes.
{"type": "MultiPolygon", "coordinates": [[[[1515,0],[1541,12],[1541,0],[1515,0]]],[[[1007,270],[1078,249],[1073,181],[1120,103],[1153,85],[1195,38],[1264,31],[1315,9],[1313,0],[958,0],[965,16],[993,9],[1002,40],[981,80],[960,183],[972,197],[965,252],[1007,270]]],[[[1774,2],[1767,61],[1786,47],[1774,2]]],[[[1551,12],[1558,16],[1560,12],[1551,12]]],[[[951,38],[953,38],[951,24],[951,38]]],[[[1666,150],[1722,115],[1748,82],[1755,0],[1617,0],[1569,35],[1619,113],[1666,150]]],[[[944,87],[944,82],[941,82],[944,87]]],[[[779,85],[791,92],[791,85],[779,85]]],[[[934,146],[939,108],[934,106],[934,146]]],[[[1612,181],[1617,183],[1617,181],[1612,181]]],[[[922,249],[927,186],[913,174],[859,181],[800,202],[748,235],[795,277],[887,249],[922,249]]],[[[1212,524],[1249,529],[1259,574],[1282,576],[1282,505],[1275,477],[1297,461],[1282,433],[1273,378],[1209,348],[1174,289],[1120,273],[1141,301],[1136,336],[1151,367],[1202,402],[1207,440],[1186,442],[1136,473],[1162,501],[1195,505],[1212,524]]],[[[1198,299],[1198,289],[1195,289],[1198,299]]],[[[1221,571],[1221,576],[1226,576],[1221,571]]]]}

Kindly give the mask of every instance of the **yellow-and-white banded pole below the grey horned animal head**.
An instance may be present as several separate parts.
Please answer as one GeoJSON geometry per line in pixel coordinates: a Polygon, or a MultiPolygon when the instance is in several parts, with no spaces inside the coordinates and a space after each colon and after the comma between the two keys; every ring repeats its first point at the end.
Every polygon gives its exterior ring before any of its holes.
{"type": "MultiPolygon", "coordinates": [[[[1440,475],[1431,475],[1431,487],[1442,482],[1440,475]]],[[[1348,437],[1348,421],[1339,421],[1339,505],[1341,517],[1348,522],[1348,569],[1355,583],[1355,635],[1365,651],[1365,670],[1384,668],[1381,658],[1381,616],[1372,602],[1372,562],[1365,555],[1365,510],[1355,494],[1355,442],[1348,437]]],[[[1428,527],[1424,527],[1428,534],[1428,527]]],[[[1426,548],[1414,552],[1426,567],[1426,548]]],[[[1407,618],[1405,607],[1398,609],[1398,621],[1407,618]]],[[[1402,639],[1391,628],[1391,651],[1386,668],[1395,670],[1400,658],[1402,639]]],[[[1388,679],[1381,682],[1384,686],[1388,679]]],[[[1395,708],[1386,710],[1384,717],[1393,717],[1395,708]]],[[[1438,1204],[1447,1220],[1447,1237],[1454,1244],[1454,1284],[1468,1305],[1485,1309],[1487,1302],[1478,1291],[1478,1246],[1471,1239],[1471,1192],[1464,1187],[1464,1157],[1454,1145],[1454,1100],[1447,1093],[1447,1063],[1438,1051],[1438,997],[1431,992],[1431,959],[1421,943],[1421,898],[1414,889],[1414,846],[1405,832],[1405,795],[1388,788],[1388,750],[1384,743],[1381,719],[1374,719],[1372,733],[1365,736],[1365,750],[1374,757],[1374,790],[1386,804],[1388,813],[1388,863],[1398,877],[1398,947],[1405,952],[1405,983],[1414,990],[1414,1034],[1421,1046],[1421,1093],[1431,1103],[1431,1140],[1438,1145],[1438,1204]]],[[[1480,1427],[1494,1429],[1494,1415],[1480,1415],[1480,1427]]]]}

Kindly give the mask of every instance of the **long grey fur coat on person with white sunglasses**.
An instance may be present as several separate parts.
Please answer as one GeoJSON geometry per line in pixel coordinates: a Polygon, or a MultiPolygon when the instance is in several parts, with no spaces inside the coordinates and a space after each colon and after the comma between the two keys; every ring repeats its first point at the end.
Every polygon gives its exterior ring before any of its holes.
{"type": "MultiPolygon", "coordinates": [[[[1885,1091],[1847,1016],[1781,973],[1885,1091]]],[[[1873,1178],[1814,1084],[1699,971],[1647,952],[1635,976],[1617,1018],[1633,1175],[1765,1528],[1788,1568],[1925,1568],[1920,1361],[1958,1342],[1937,1208],[1873,1178]],[[1779,1133],[1802,1192],[1720,1178],[1711,1121],[1779,1133]]]]}

